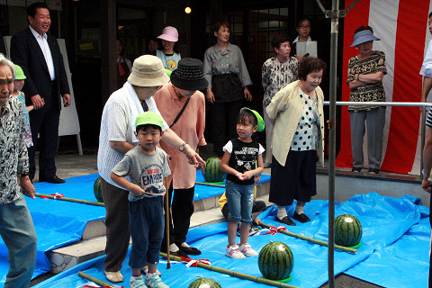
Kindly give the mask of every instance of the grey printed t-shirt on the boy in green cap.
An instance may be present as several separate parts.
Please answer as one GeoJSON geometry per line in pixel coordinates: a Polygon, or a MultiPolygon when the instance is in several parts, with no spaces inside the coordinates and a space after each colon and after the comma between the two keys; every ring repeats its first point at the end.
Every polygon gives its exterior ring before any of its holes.
{"type": "Polygon", "coordinates": [[[129,193],[129,201],[137,201],[144,197],[164,196],[166,187],[164,178],[171,174],[166,153],[156,148],[155,154],[145,153],[139,146],[130,149],[123,159],[112,168],[115,175],[130,177],[128,180],[144,189],[144,194],[129,193]]]}

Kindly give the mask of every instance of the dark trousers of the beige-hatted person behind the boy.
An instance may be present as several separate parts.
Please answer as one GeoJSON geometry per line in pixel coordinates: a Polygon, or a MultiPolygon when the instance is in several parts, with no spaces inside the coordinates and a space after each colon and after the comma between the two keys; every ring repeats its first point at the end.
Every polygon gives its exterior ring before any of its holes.
{"type": "Polygon", "coordinates": [[[117,188],[101,178],[103,203],[105,204],[106,258],[105,271],[120,271],[130,243],[129,191],[117,188]]]}

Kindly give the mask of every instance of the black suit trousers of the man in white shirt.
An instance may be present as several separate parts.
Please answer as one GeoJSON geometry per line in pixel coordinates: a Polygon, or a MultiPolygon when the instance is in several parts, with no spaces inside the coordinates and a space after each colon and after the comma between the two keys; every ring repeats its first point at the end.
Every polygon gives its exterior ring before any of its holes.
{"type": "Polygon", "coordinates": [[[30,115],[31,139],[33,146],[28,148],[30,171],[32,180],[36,173],[34,155],[39,148],[39,181],[44,181],[56,175],[55,157],[58,144],[58,95],[51,95],[51,100],[45,100],[45,106],[40,110],[33,110],[30,115]],[[39,140],[38,140],[39,135],[39,140]]]}

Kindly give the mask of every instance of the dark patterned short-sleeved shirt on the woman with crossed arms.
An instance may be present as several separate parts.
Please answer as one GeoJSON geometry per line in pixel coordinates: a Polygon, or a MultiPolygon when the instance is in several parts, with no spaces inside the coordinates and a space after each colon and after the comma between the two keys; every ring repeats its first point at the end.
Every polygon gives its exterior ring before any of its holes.
{"type": "MultiPolygon", "coordinates": [[[[385,66],[385,54],[382,51],[373,51],[369,58],[359,60],[357,57],[350,58],[348,61],[348,77],[347,83],[354,80],[357,73],[371,74],[375,72],[383,72],[387,74],[385,66]]],[[[351,89],[349,94],[351,102],[385,102],[385,92],[383,81],[370,83],[351,89]]],[[[348,106],[348,111],[363,111],[371,110],[385,106],[348,106]]]]}

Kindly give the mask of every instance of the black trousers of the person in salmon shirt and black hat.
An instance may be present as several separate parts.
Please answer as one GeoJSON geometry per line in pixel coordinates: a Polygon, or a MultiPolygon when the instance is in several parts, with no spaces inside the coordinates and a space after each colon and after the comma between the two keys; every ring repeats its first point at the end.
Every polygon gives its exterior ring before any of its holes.
{"type": "MultiPolygon", "coordinates": [[[[169,186],[167,195],[172,213],[169,214],[169,223],[165,223],[169,225],[169,244],[175,243],[179,246],[186,241],[193,214],[194,193],[194,186],[188,189],[175,189],[173,197],[173,184],[171,183],[169,186]]],[[[166,230],[164,231],[161,250],[166,251],[166,230]]]]}

